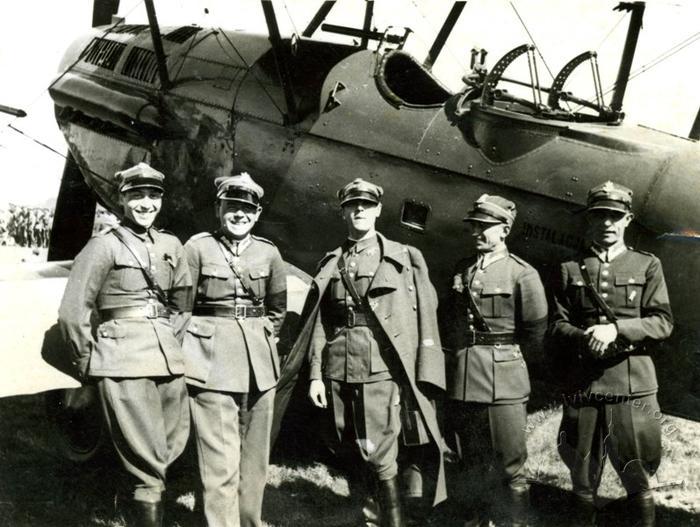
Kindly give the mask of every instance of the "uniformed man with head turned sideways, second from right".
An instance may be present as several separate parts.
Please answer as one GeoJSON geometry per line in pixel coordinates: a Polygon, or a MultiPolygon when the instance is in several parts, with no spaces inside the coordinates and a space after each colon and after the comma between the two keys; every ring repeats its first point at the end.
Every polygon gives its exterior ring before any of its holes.
{"type": "MultiPolygon", "coordinates": [[[[458,264],[453,279],[447,418],[466,468],[483,468],[484,453],[491,451],[507,488],[510,521],[525,525],[530,380],[523,357],[541,357],[547,299],[537,271],[506,246],[515,216],[512,201],[484,194],[464,219],[476,255],[458,264]]],[[[482,497],[469,496],[468,523],[478,521],[482,497]]]]}

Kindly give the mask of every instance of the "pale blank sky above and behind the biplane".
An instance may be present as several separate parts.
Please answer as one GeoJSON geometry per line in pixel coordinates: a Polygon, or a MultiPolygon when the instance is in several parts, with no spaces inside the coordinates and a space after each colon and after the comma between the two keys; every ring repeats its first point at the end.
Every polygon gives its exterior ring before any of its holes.
{"type": "MultiPolygon", "coordinates": [[[[433,71],[452,90],[468,73],[470,50],[488,51],[487,67],[520,44],[534,41],[541,83],[571,58],[586,50],[598,52],[604,88],[616,78],[629,15],[613,11],[610,0],[468,0],[433,71]]],[[[161,27],[197,24],[266,33],[257,0],[156,0],[161,27]]],[[[274,0],[283,35],[301,33],[319,0],[274,0]]],[[[410,27],[406,50],[423,59],[452,6],[447,0],[376,0],[374,26],[410,27]]],[[[22,0],[0,8],[0,104],[24,109],[16,119],[0,114],[0,209],[7,203],[41,206],[54,199],[60,183],[66,146],[53,117],[48,86],[57,75],[63,52],[87,31],[91,0],[22,0]],[[13,128],[21,130],[23,134],[13,128]],[[38,143],[45,146],[40,146],[38,143]],[[49,148],[57,151],[53,152],[49,148]]],[[[339,0],[328,22],[360,27],[362,0],[339,0]]],[[[142,0],[121,0],[119,15],[127,23],[145,23],[142,0]]],[[[700,2],[650,0],[644,15],[624,102],[627,121],[687,136],[700,108],[700,2]],[[690,40],[688,40],[690,39],[690,40]],[[698,40],[694,40],[698,39],[698,40]],[[653,65],[674,47],[687,46],[653,65]]],[[[323,34],[315,38],[348,42],[323,34]]],[[[526,78],[514,64],[508,76],[526,78]]],[[[567,84],[575,94],[592,96],[590,69],[581,67],[567,84]]],[[[606,101],[610,102],[610,95],[606,101]]]]}

